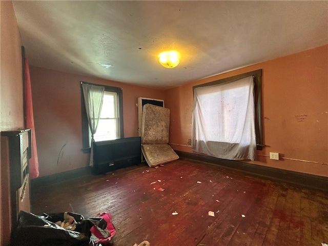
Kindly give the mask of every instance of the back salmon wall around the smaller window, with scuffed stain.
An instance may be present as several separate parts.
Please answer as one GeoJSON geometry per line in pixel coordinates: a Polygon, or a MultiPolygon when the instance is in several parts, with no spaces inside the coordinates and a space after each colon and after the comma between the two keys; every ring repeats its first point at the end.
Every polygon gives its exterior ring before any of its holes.
{"type": "Polygon", "coordinates": [[[125,137],[138,136],[137,97],[164,91],[30,66],[40,176],[88,166],[82,148],[80,81],[123,89],[125,137]]]}

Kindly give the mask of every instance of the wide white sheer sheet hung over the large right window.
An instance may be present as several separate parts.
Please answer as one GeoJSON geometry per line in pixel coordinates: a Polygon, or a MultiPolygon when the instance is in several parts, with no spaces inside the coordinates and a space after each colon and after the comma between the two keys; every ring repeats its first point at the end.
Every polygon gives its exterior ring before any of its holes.
{"type": "Polygon", "coordinates": [[[253,76],[194,89],[193,151],[222,159],[256,159],[253,76]]]}

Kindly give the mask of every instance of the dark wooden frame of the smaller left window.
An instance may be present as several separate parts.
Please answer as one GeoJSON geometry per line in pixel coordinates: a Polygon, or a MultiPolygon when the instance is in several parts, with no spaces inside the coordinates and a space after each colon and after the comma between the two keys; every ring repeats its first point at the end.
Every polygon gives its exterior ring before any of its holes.
{"type": "Polygon", "coordinates": [[[84,153],[90,153],[91,146],[90,146],[90,137],[89,137],[89,122],[88,116],[86,112],[86,106],[84,103],[84,96],[83,96],[83,88],[82,84],[89,84],[95,86],[103,86],[105,87],[105,91],[107,92],[114,92],[117,94],[117,101],[118,101],[118,112],[117,115],[119,117],[119,124],[118,124],[118,131],[120,138],[124,138],[124,121],[123,121],[123,90],[119,87],[113,86],[106,86],[106,85],[99,85],[99,84],[92,84],[86,81],[80,81],[80,95],[81,95],[81,123],[82,123],[82,151],[84,153]]]}

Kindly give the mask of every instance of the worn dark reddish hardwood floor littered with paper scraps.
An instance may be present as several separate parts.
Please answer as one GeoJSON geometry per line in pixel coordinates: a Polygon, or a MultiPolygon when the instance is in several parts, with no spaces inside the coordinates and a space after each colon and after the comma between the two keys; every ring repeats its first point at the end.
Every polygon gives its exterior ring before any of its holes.
{"type": "Polygon", "coordinates": [[[157,169],[141,163],[33,187],[31,195],[35,214],[111,213],[115,246],[328,243],[327,193],[207,163],[177,160],[157,169]]]}

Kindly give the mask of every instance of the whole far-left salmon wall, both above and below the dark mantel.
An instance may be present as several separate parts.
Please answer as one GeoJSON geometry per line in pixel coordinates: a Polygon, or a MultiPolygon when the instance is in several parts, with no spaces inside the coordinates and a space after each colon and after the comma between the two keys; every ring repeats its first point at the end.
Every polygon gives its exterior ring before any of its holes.
{"type": "MultiPolygon", "coordinates": [[[[0,1],[0,131],[24,128],[22,42],[11,1],[0,1]]],[[[10,191],[7,142],[1,139],[0,245],[9,245],[10,191]]]]}

